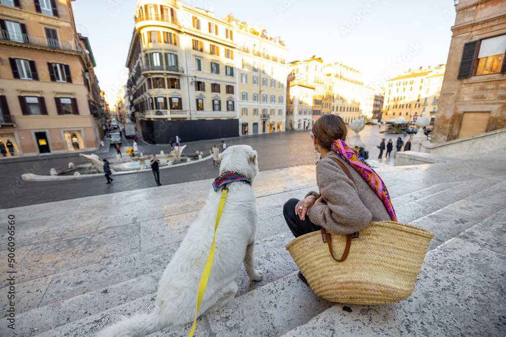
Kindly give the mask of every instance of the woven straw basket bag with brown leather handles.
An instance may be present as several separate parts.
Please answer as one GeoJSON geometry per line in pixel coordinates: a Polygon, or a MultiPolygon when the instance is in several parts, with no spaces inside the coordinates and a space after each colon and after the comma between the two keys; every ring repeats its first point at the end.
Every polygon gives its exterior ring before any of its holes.
{"type": "MultiPolygon", "coordinates": [[[[345,251],[347,235],[330,236],[333,255],[339,258],[345,251]]],[[[374,305],[409,297],[434,233],[379,221],[369,223],[358,236],[351,239],[349,255],[343,262],[330,255],[320,231],[293,239],[286,249],[313,292],[327,301],[374,305]]]]}

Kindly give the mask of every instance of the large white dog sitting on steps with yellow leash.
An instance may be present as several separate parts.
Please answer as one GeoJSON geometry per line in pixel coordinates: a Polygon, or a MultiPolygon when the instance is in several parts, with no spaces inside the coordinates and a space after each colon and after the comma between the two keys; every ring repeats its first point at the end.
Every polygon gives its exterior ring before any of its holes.
{"type": "MultiPolygon", "coordinates": [[[[219,156],[220,174],[237,172],[251,182],[258,174],[257,152],[247,145],[226,149],[219,156]]],[[[260,281],[263,272],[254,268],[257,200],[252,187],[242,181],[227,184],[229,189],[216,231],[215,255],[198,315],[223,307],[237,292],[235,279],[244,262],[252,281],[260,281]]],[[[192,322],[200,276],[213,241],[221,188],[211,188],[199,218],[190,226],[158,286],[155,309],[151,314],[124,318],[101,331],[102,337],[145,336],[167,326],[192,322]]]]}

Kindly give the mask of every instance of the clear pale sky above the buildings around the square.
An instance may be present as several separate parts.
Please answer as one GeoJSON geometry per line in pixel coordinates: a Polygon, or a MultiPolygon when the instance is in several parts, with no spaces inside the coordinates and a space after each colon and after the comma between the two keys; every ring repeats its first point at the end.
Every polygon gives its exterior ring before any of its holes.
{"type": "MultiPolygon", "coordinates": [[[[126,83],[136,0],[72,2],[77,31],[90,39],[107,102],[126,83]]],[[[287,62],[313,55],[361,71],[364,82],[383,84],[387,74],[446,63],[455,21],[453,0],[183,0],[281,36],[287,62]],[[383,79],[383,81],[382,81],[383,79]]],[[[382,85],[383,86],[383,85],[382,85]]]]}

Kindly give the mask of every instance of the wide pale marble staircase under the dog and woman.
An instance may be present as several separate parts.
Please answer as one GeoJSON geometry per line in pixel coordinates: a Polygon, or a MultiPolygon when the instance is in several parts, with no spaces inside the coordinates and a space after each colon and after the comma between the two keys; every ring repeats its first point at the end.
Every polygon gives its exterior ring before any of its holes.
{"type": "MultiPolygon", "coordinates": [[[[506,333],[506,152],[384,167],[402,222],[435,233],[413,295],[353,306],[318,298],[297,276],[282,205],[316,189],[314,166],[261,172],[255,246],[261,282],[200,317],[195,336],[500,335],[506,333]]],[[[0,335],[92,336],[149,312],[157,282],[205,202],[210,180],[0,210],[16,216],[16,329],[0,335]],[[4,334],[6,333],[6,334],[4,334]],[[8,333],[8,334],[7,334],[8,333]]],[[[0,235],[5,236],[5,228],[0,235]]],[[[7,242],[0,242],[6,252],[7,242]]],[[[5,254],[4,254],[5,255],[5,254]]],[[[0,266],[6,275],[7,266],[0,266]]],[[[0,296],[7,296],[7,283],[0,296]]],[[[7,304],[2,303],[6,312],[7,304]]],[[[190,324],[151,336],[187,335],[190,324]]]]}

